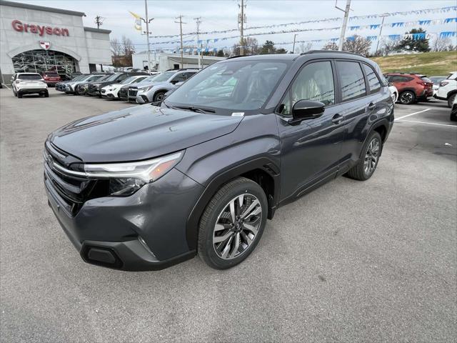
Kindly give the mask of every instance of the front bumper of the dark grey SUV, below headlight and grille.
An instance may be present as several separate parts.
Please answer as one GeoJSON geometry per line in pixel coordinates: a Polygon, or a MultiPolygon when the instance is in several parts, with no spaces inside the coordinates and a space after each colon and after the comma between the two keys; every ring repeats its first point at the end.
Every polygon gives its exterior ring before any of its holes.
{"type": "Polygon", "coordinates": [[[50,179],[44,183],[49,206],[87,263],[158,270],[196,254],[189,249],[186,221],[204,188],[177,169],[129,197],[88,200],[74,216],[50,179]]]}

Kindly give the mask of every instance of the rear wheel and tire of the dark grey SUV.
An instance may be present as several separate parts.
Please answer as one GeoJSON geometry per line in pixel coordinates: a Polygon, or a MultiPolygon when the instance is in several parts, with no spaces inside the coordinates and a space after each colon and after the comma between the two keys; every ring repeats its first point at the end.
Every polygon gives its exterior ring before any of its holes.
{"type": "Polygon", "coordinates": [[[381,135],[378,132],[373,131],[366,139],[366,143],[363,145],[361,158],[355,166],[346,174],[351,179],[365,181],[368,180],[375,172],[376,166],[378,166],[379,158],[381,157],[381,152],[383,149],[383,144],[381,140],[381,135]],[[377,141],[378,149],[375,149],[377,141]],[[373,145],[372,145],[373,144],[373,145]],[[376,154],[373,152],[376,150],[376,154]],[[374,160],[376,158],[376,161],[374,160]],[[366,161],[370,164],[366,165],[366,161]],[[374,164],[373,164],[374,162],[374,164]],[[368,168],[367,168],[368,166],[368,168]]]}

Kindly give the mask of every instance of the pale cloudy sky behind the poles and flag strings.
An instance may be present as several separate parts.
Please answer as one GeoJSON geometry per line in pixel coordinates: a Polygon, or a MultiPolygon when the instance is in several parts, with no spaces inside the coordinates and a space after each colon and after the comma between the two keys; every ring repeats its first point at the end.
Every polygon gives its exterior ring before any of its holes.
{"type": "MultiPolygon", "coordinates": [[[[59,9],[69,9],[83,11],[86,16],[83,18],[84,26],[96,27],[95,16],[104,18],[101,29],[111,30],[111,39],[125,35],[134,42],[136,51],[146,50],[146,36],[141,35],[140,31],[134,29],[134,17],[129,14],[133,11],[140,16],[145,16],[144,0],[16,0],[27,4],[55,7],[59,9]]],[[[346,0],[337,0],[338,6],[344,8],[346,0]]],[[[200,31],[221,31],[238,28],[238,4],[241,0],[148,0],[149,17],[154,18],[149,30],[152,36],[162,36],[179,34],[179,24],[176,24],[176,17],[183,15],[183,33],[196,31],[196,21],[194,18],[201,17],[200,31]]],[[[245,34],[265,33],[271,31],[290,30],[290,29],[317,29],[317,28],[336,28],[325,31],[297,32],[296,41],[309,41],[313,39],[331,39],[340,35],[339,27],[342,23],[343,11],[335,8],[335,0],[245,0],[246,27],[264,26],[273,24],[293,23],[312,19],[326,19],[340,17],[338,21],[328,21],[320,23],[300,24],[281,26],[276,28],[246,29],[245,34]]],[[[366,14],[383,14],[395,11],[413,11],[420,9],[432,9],[446,6],[456,6],[455,0],[352,0],[350,16],[363,16],[366,14]]],[[[398,21],[417,21],[426,19],[445,19],[457,17],[456,11],[446,13],[429,13],[408,16],[389,16],[385,23],[398,21]]],[[[356,19],[350,20],[348,25],[368,25],[381,24],[381,18],[356,19]]],[[[441,24],[433,26],[423,26],[429,33],[439,33],[441,31],[457,31],[457,23],[441,24]]],[[[146,30],[146,27],[143,26],[146,30]]],[[[408,28],[410,29],[410,28],[408,28]]],[[[383,28],[383,36],[388,34],[404,34],[407,31],[404,27],[383,28]]],[[[233,46],[239,39],[220,39],[226,36],[236,36],[238,31],[226,34],[206,34],[201,35],[200,39],[219,39],[216,43],[209,43],[210,48],[221,48],[233,46]]],[[[360,36],[377,35],[378,30],[346,31],[346,36],[358,34],[360,36]]],[[[282,47],[291,51],[294,33],[283,34],[264,34],[254,36],[259,44],[263,44],[266,39],[276,43],[276,47],[282,47]],[[289,44],[278,44],[289,43],[289,44]]],[[[196,40],[196,36],[184,36],[184,40],[196,40]]],[[[456,45],[457,37],[453,37],[452,44],[456,45]]],[[[175,49],[179,46],[179,37],[174,38],[154,38],[151,43],[174,41],[172,43],[151,44],[151,49],[175,49]],[[176,41],[176,42],[175,42],[176,41]]],[[[196,44],[196,42],[194,43],[196,44]]],[[[325,44],[323,42],[313,43],[313,49],[319,49],[325,44]]],[[[185,44],[192,46],[193,43],[185,44]]],[[[296,44],[299,49],[300,44],[296,44]]],[[[372,50],[376,47],[373,41],[372,50]]]]}

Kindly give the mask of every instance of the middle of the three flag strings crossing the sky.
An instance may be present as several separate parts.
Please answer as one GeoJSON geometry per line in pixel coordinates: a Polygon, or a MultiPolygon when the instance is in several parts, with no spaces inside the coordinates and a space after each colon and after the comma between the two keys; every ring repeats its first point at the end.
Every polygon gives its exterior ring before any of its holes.
{"type": "MultiPolygon", "coordinates": [[[[457,8],[457,7],[456,7],[457,8]]],[[[444,19],[435,19],[435,20],[418,20],[418,21],[401,21],[401,22],[396,22],[396,23],[388,23],[388,24],[383,24],[383,27],[411,27],[411,26],[426,26],[426,25],[441,25],[441,24],[450,24],[450,23],[457,23],[457,17],[453,18],[444,18],[444,19]]],[[[363,29],[380,29],[381,24],[369,24],[369,25],[357,25],[357,26],[348,26],[349,31],[356,31],[356,30],[363,30],[363,29]]],[[[294,32],[311,32],[311,31],[337,31],[340,30],[341,26],[334,26],[334,27],[326,27],[326,28],[320,28],[320,29],[290,29],[290,30],[281,30],[281,31],[265,31],[265,32],[256,32],[254,34],[246,34],[245,36],[263,36],[267,34],[291,34],[294,32]]],[[[214,38],[214,39],[187,39],[184,40],[184,44],[188,43],[195,43],[197,45],[201,44],[210,44],[210,43],[216,43],[218,41],[225,41],[227,39],[238,39],[239,35],[237,34],[236,36],[228,36],[228,37],[222,37],[222,38],[214,38]]],[[[153,43],[150,43],[151,45],[158,45],[158,44],[173,44],[175,41],[156,41],[153,43]]]]}

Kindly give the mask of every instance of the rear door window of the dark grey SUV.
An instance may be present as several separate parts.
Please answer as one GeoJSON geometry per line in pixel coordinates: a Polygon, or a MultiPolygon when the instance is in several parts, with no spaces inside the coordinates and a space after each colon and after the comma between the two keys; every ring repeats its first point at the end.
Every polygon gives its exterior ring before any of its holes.
{"type": "Polygon", "coordinates": [[[343,101],[360,98],[366,95],[365,78],[357,62],[336,61],[336,69],[341,81],[343,101]]]}

